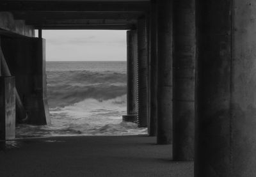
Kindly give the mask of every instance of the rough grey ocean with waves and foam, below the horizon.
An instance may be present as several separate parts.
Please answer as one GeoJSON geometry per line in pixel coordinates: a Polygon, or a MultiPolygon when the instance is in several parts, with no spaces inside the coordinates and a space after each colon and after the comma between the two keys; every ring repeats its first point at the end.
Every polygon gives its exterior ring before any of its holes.
{"type": "Polygon", "coordinates": [[[47,61],[51,125],[17,125],[16,137],[139,135],[147,128],[122,122],[125,61],[47,61]]]}

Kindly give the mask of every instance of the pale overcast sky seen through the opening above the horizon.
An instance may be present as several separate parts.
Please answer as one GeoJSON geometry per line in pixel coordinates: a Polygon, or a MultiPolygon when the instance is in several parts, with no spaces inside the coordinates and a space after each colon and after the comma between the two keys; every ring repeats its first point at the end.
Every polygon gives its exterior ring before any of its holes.
{"type": "Polygon", "coordinates": [[[47,61],[125,61],[126,31],[44,30],[47,61]]]}

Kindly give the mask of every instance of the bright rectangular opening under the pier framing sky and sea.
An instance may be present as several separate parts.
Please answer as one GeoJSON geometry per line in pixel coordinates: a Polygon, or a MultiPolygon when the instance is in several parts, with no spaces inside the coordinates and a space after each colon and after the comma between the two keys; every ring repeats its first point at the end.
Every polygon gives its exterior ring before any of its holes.
{"type": "Polygon", "coordinates": [[[44,30],[51,125],[20,125],[23,136],[138,135],[127,114],[124,30],[44,30]]]}

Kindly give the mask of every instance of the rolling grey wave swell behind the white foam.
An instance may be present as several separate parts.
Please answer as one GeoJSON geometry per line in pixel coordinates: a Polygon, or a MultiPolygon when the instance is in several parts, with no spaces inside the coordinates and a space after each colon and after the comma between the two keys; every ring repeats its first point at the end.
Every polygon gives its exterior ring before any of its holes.
{"type": "Polygon", "coordinates": [[[126,94],[126,75],[116,72],[47,72],[50,107],[63,107],[88,98],[103,101],[126,94]]]}

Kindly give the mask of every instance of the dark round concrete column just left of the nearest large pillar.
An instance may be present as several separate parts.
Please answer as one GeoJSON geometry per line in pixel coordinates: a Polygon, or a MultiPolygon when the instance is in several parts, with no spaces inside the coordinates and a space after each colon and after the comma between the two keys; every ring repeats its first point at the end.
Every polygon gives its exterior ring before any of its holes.
{"type": "Polygon", "coordinates": [[[195,0],[175,0],[173,3],[173,160],[193,160],[195,0]]]}

